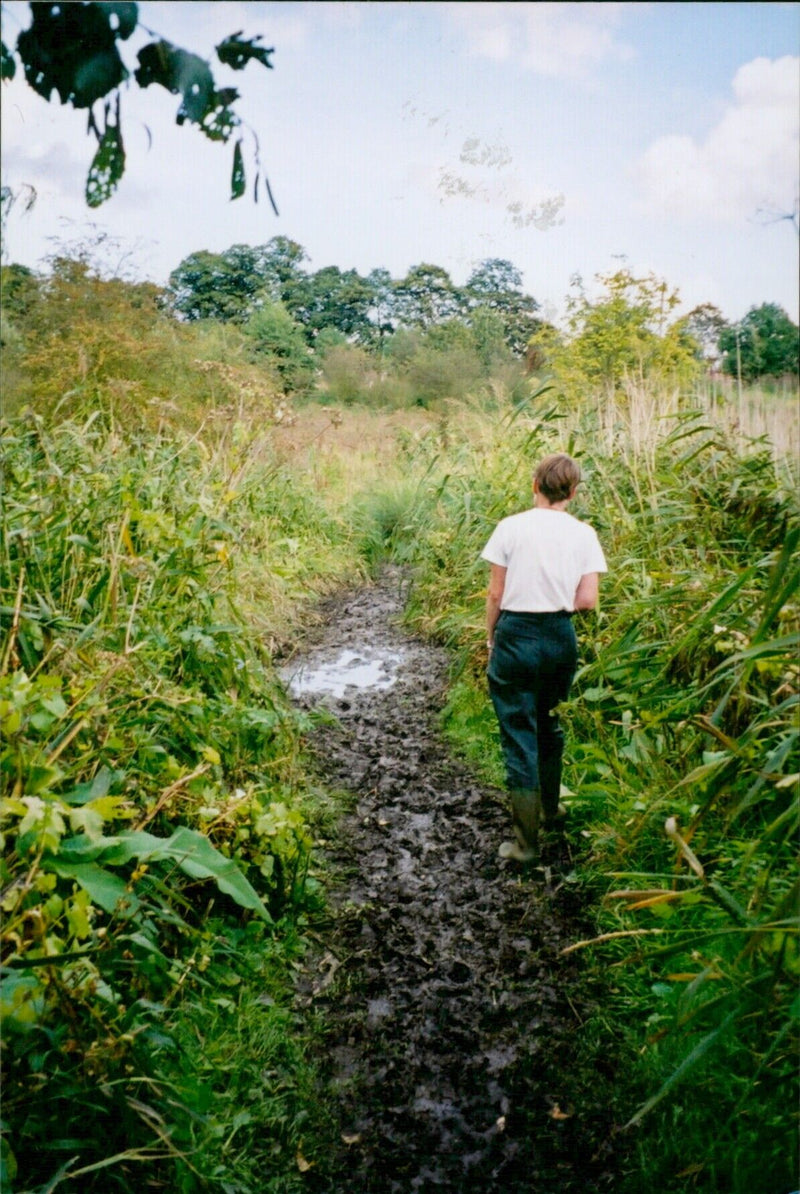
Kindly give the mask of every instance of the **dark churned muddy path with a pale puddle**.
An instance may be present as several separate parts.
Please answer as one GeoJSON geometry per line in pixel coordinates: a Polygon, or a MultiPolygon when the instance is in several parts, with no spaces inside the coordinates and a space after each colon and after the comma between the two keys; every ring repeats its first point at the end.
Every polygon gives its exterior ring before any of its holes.
{"type": "Polygon", "coordinates": [[[614,1055],[592,1053],[579,955],[587,924],[568,836],[535,867],[501,861],[501,794],[436,732],[447,656],[399,627],[402,577],[324,610],[294,661],[295,700],[337,716],[313,734],[321,776],[352,793],[332,918],[300,1002],[327,1023],[340,1135],[326,1194],[619,1188],[614,1055]],[[351,682],[351,683],[349,683],[351,682]]]}

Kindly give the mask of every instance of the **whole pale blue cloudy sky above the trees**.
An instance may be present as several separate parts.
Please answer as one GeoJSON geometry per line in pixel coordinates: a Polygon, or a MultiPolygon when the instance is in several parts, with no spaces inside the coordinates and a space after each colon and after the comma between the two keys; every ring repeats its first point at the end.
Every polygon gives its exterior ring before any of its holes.
{"type": "MultiPolygon", "coordinates": [[[[29,23],[2,5],[4,39],[29,23]]],[[[174,124],[160,88],[123,94],[128,168],[96,211],[85,113],[4,86],[2,171],[36,187],[6,259],[107,234],[106,259],[165,282],[196,250],[299,241],[309,267],[394,277],[420,261],[466,281],[523,272],[549,318],[574,273],[621,264],[684,309],[798,319],[800,6],[796,4],[140,4],[144,25],[210,57],[263,33],[273,70],[215,70],[242,92],[279,216],[228,199],[230,150],[174,124]],[[147,128],[152,133],[152,142],[147,128]],[[91,226],[94,226],[92,228],[91,226]]],[[[125,48],[134,62],[139,42],[125,48]]]]}

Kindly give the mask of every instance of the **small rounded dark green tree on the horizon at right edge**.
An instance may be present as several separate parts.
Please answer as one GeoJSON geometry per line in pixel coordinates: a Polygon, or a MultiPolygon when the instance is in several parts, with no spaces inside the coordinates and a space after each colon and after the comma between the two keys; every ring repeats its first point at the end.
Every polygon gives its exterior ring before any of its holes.
{"type": "Polygon", "coordinates": [[[777,303],[751,307],[743,320],[722,328],[719,346],[722,369],[734,377],[753,381],[800,373],[800,330],[777,303]]]}

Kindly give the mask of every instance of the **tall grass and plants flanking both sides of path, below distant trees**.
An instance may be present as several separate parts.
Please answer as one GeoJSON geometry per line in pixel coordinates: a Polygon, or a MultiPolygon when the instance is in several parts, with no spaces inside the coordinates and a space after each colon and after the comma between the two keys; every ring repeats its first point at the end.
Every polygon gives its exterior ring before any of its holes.
{"type": "Polygon", "coordinates": [[[454,650],[447,731],[498,784],[479,553],[567,448],[611,564],[565,709],[607,992],[586,1055],[610,1034],[636,1059],[630,1194],[788,1194],[796,510],[770,450],[634,398],[4,429],[4,1188],[248,1194],[324,1168],[291,995],[336,811],[273,653],[316,595],[408,564],[413,624],[454,650]]]}

